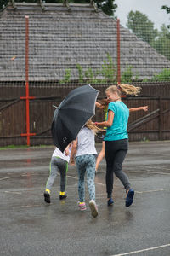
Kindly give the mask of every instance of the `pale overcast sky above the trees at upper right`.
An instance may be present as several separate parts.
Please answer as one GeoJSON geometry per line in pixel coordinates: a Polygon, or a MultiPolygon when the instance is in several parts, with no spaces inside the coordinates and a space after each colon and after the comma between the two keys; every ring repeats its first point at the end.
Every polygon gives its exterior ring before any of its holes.
{"type": "Polygon", "coordinates": [[[116,16],[120,19],[122,26],[126,26],[127,15],[131,10],[139,10],[147,15],[148,19],[154,23],[155,28],[160,29],[162,24],[170,24],[170,14],[161,9],[162,5],[170,7],[170,0],[116,0],[115,3],[118,5],[116,16]]]}

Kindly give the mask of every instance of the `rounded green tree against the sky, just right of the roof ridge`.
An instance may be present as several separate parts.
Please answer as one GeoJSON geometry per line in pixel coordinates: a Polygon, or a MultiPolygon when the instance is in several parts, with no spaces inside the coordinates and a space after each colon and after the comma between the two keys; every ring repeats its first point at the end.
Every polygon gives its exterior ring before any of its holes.
{"type": "Polygon", "coordinates": [[[157,36],[154,23],[139,11],[130,11],[127,15],[127,27],[138,37],[149,43],[157,36]]]}

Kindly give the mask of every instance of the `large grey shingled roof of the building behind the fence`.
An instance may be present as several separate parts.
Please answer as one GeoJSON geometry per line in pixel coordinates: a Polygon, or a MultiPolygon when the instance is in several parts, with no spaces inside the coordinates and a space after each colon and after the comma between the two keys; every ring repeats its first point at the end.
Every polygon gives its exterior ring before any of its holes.
{"type": "MultiPolygon", "coordinates": [[[[101,69],[109,53],[116,62],[116,21],[92,6],[33,4],[8,6],[0,14],[0,81],[25,80],[26,15],[29,16],[29,79],[63,79],[71,69],[101,69]]],[[[151,78],[170,61],[121,26],[121,71],[129,65],[140,79],[151,78]]]]}

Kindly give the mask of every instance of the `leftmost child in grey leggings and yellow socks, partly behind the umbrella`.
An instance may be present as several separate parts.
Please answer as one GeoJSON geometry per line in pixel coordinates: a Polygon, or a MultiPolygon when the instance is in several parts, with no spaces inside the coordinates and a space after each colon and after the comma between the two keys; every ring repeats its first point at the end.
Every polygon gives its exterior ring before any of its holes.
{"type": "Polygon", "coordinates": [[[57,173],[60,172],[60,193],[59,199],[65,199],[65,185],[66,185],[66,172],[68,170],[68,163],[70,161],[71,155],[71,147],[70,144],[67,148],[65,148],[64,153],[62,153],[59,148],[54,149],[54,153],[52,154],[51,162],[50,162],[50,173],[48,177],[48,181],[46,183],[46,189],[44,192],[44,201],[50,203],[50,192],[54,181],[57,177],[57,173]]]}

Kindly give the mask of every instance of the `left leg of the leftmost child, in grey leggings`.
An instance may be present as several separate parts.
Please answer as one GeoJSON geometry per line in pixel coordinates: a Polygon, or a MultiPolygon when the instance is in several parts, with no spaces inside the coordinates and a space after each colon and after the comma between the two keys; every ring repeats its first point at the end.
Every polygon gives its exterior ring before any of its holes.
{"type": "Polygon", "coordinates": [[[50,190],[54,184],[54,181],[55,181],[55,178],[57,177],[57,172],[58,172],[56,157],[52,157],[49,167],[50,167],[50,173],[49,173],[48,181],[46,183],[46,191],[50,193],[50,190]]]}

